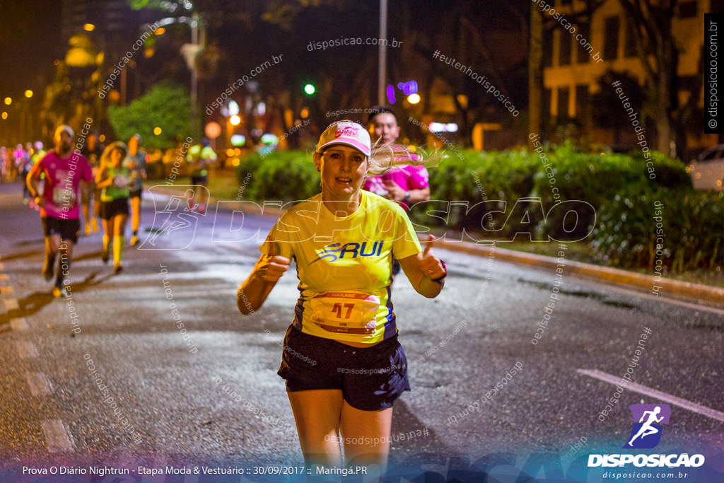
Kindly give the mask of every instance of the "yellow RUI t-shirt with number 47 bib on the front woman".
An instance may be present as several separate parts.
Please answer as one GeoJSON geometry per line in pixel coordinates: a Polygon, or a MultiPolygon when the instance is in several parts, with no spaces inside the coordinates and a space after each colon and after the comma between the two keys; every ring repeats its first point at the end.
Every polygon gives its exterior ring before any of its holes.
{"type": "Polygon", "coordinates": [[[390,300],[392,259],[421,251],[405,211],[361,191],[359,208],[337,217],[321,193],[282,215],[259,247],[294,259],[300,297],[294,326],[327,339],[378,343],[397,333],[390,300]]]}

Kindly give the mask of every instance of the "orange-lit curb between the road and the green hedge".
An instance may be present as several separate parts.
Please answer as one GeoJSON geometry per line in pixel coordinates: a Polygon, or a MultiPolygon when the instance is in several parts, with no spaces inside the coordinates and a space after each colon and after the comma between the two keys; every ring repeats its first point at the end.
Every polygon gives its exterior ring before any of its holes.
{"type": "MultiPolygon", "coordinates": [[[[148,190],[148,188],[145,189],[148,190]]],[[[165,186],[161,186],[161,189],[156,191],[164,194],[167,192],[178,193],[178,190],[166,188],[165,186]]],[[[242,201],[216,200],[216,198],[212,197],[209,198],[208,204],[216,204],[217,201],[224,201],[225,206],[232,209],[239,209],[240,211],[245,211],[245,206],[248,206],[242,201]]],[[[263,211],[259,212],[255,210],[253,211],[253,214],[278,218],[281,217],[284,212],[285,210],[267,205],[264,206],[263,211]]],[[[557,259],[551,256],[506,250],[505,248],[491,248],[490,245],[476,245],[471,242],[437,240],[435,245],[440,248],[445,248],[445,250],[459,251],[476,256],[488,257],[491,252],[494,252],[493,256],[495,259],[510,261],[514,264],[536,266],[542,269],[555,270],[558,264],[557,259]]],[[[657,292],[653,290],[654,285],[657,285],[658,287],[661,287],[660,290],[658,290],[658,293],[694,301],[704,301],[712,304],[713,306],[724,307],[724,288],[710,287],[708,285],[700,285],[690,282],[679,282],[678,280],[670,280],[664,277],[657,279],[652,275],[637,274],[627,272],[626,270],[613,269],[607,266],[584,264],[580,261],[565,260],[564,263],[565,268],[563,273],[565,274],[577,275],[578,277],[603,282],[612,282],[616,285],[624,285],[626,287],[633,287],[639,290],[644,289],[652,294],[657,294],[657,292]]]]}

